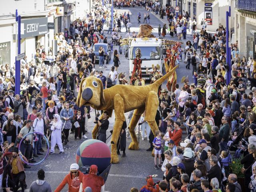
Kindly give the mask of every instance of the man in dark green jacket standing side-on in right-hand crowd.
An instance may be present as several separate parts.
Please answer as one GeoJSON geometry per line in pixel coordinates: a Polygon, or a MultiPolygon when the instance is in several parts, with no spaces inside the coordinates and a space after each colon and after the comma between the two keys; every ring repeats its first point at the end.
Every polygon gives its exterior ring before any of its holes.
{"type": "Polygon", "coordinates": [[[227,116],[221,118],[222,127],[220,128],[219,139],[220,139],[220,151],[226,151],[228,147],[229,130],[227,116]]]}

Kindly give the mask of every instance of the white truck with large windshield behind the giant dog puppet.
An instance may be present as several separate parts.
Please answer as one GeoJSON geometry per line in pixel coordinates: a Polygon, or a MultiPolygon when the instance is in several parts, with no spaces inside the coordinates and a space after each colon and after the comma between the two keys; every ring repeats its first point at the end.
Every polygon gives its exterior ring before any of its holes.
{"type": "Polygon", "coordinates": [[[125,49],[125,57],[129,60],[129,77],[132,76],[134,64],[132,64],[135,56],[135,50],[140,48],[141,50],[141,71],[142,79],[149,80],[150,76],[146,74],[146,68],[148,72],[152,72],[152,64],[156,66],[159,64],[160,72],[162,72],[162,64],[166,49],[161,38],[131,38],[128,40],[128,47],[125,49]]]}

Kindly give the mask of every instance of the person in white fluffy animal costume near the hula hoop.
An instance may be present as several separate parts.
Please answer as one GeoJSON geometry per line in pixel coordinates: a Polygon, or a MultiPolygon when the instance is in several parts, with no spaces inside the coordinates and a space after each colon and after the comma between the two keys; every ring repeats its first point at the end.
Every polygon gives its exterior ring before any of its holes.
{"type": "Polygon", "coordinates": [[[61,129],[62,129],[62,121],[60,120],[60,116],[58,114],[54,114],[54,123],[51,126],[52,130],[52,140],[51,140],[51,150],[50,154],[54,154],[54,147],[56,144],[60,149],[60,154],[64,152],[61,140],[61,129]]]}

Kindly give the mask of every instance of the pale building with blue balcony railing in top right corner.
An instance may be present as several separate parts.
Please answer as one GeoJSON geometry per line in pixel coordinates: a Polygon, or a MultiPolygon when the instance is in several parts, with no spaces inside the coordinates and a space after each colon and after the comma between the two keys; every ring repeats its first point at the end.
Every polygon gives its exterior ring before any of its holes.
{"type": "Polygon", "coordinates": [[[240,56],[255,58],[256,1],[238,0],[235,4],[235,39],[240,56]]]}

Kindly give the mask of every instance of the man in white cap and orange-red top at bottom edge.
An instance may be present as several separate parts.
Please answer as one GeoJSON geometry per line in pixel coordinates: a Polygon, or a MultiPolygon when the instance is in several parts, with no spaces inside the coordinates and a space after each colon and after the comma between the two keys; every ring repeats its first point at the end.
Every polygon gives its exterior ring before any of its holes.
{"type": "Polygon", "coordinates": [[[70,173],[65,176],[55,192],[60,192],[68,184],[68,192],[79,192],[84,174],[80,172],[79,165],[73,163],[70,165],[70,173]]]}

